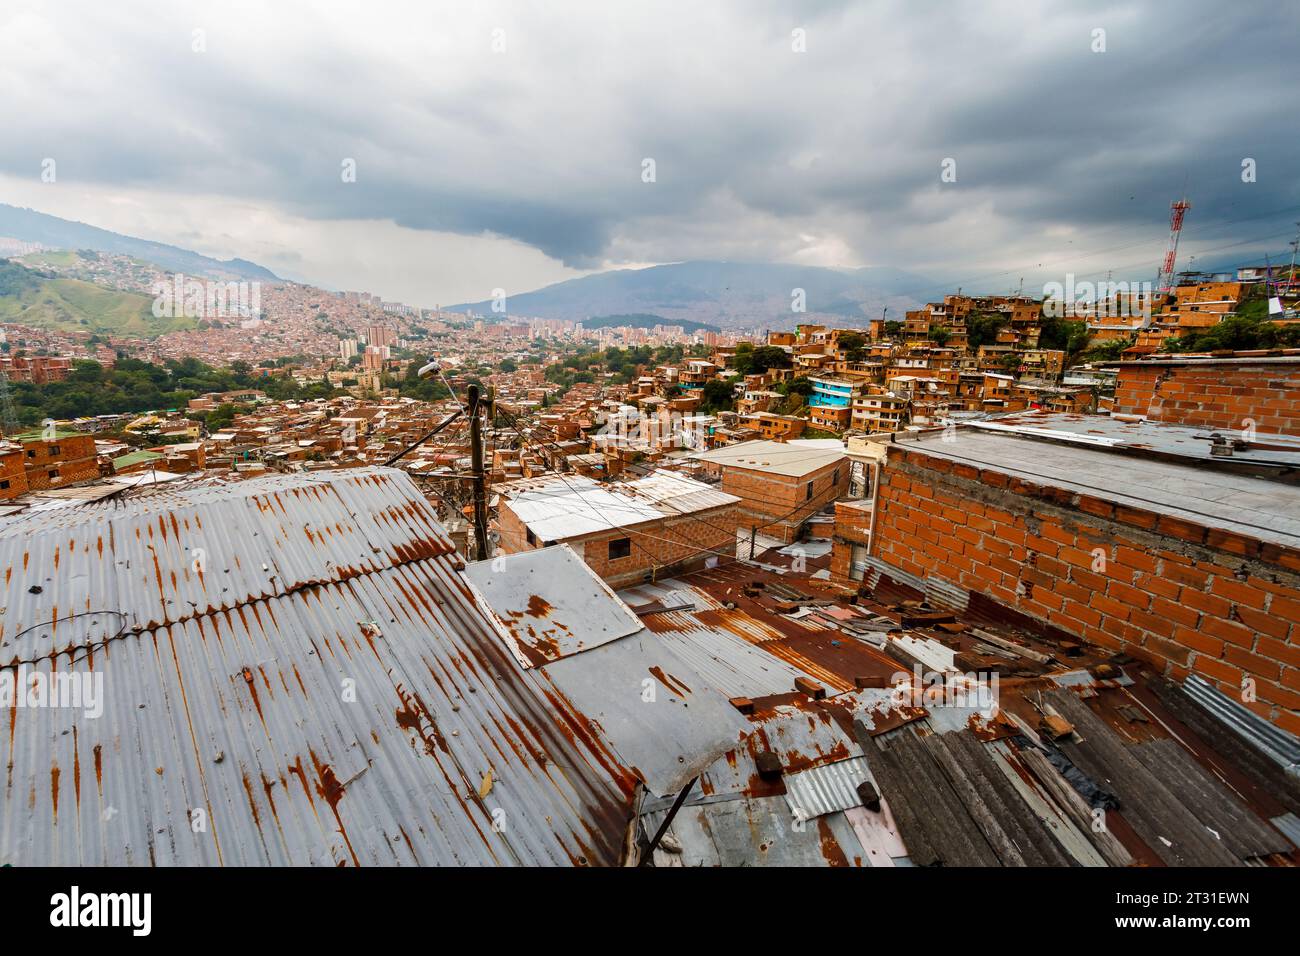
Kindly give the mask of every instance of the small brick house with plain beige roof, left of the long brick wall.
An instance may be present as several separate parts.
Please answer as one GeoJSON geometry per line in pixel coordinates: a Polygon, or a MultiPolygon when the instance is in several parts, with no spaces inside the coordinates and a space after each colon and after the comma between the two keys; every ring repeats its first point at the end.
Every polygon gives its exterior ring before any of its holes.
{"type": "Polygon", "coordinates": [[[785,544],[809,518],[849,490],[844,445],[833,440],[749,441],[694,455],[720,488],[741,499],[741,532],[785,544]]]}

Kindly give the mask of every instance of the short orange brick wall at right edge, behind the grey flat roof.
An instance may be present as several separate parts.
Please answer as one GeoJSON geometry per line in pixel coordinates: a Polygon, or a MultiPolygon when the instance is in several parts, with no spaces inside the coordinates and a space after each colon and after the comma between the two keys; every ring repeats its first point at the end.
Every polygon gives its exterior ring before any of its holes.
{"type": "Polygon", "coordinates": [[[1300,363],[1205,362],[1119,367],[1117,412],[1240,432],[1300,434],[1300,363]]]}

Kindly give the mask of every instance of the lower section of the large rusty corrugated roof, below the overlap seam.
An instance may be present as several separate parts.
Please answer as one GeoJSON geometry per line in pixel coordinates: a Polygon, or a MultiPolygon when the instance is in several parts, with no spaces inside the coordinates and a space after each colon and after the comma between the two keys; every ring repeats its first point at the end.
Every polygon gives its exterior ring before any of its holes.
{"type": "Polygon", "coordinates": [[[460,594],[417,562],[46,662],[103,674],[104,713],[10,710],[0,858],[616,862],[616,761],[460,594]]]}

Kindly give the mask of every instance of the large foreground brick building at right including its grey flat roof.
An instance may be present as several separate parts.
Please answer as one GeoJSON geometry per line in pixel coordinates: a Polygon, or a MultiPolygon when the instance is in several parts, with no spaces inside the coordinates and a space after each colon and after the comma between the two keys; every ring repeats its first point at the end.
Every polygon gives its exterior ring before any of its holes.
{"type": "Polygon", "coordinates": [[[890,445],[874,555],[1300,732],[1300,453],[1223,460],[1197,429],[1037,420],[890,445]]]}

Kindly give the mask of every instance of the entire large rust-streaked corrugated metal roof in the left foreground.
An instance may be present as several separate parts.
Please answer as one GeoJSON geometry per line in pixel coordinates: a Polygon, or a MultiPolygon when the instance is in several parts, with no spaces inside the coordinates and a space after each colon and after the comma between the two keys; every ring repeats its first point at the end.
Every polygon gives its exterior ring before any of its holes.
{"type": "Polygon", "coordinates": [[[9,709],[0,862],[620,858],[633,774],[515,663],[400,472],[18,519],[0,558],[6,659],[104,683],[99,718],[9,709]]]}

